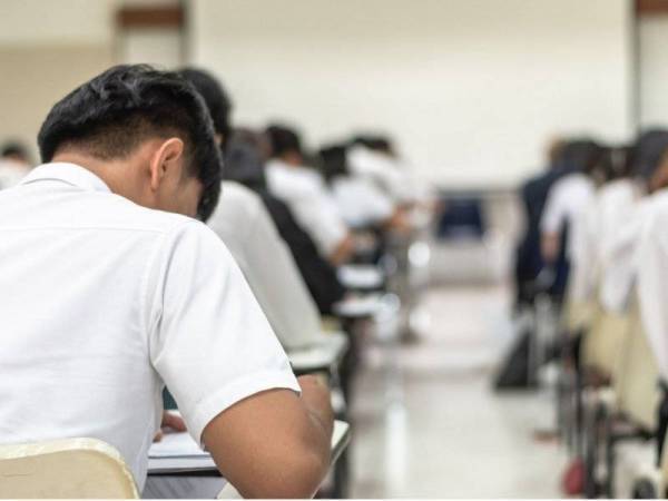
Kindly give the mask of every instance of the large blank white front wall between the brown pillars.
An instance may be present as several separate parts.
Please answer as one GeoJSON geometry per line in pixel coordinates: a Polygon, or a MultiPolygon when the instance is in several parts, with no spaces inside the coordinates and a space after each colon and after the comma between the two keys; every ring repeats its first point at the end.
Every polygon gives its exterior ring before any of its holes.
{"type": "Polygon", "coordinates": [[[508,186],[548,139],[630,134],[628,0],[191,0],[236,119],[386,130],[442,184],[508,186]]]}

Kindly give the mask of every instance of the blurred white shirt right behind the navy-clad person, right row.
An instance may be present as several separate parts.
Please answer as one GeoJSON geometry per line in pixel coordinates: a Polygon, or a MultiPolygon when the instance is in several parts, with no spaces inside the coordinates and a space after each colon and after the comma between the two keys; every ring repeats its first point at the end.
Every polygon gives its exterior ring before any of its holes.
{"type": "Polygon", "coordinates": [[[596,248],[588,232],[595,202],[596,186],[591,179],[581,173],[568,175],[550,190],[541,220],[543,234],[558,234],[568,223],[567,255],[571,263],[568,294],[576,302],[586,301],[593,293],[596,248]]]}

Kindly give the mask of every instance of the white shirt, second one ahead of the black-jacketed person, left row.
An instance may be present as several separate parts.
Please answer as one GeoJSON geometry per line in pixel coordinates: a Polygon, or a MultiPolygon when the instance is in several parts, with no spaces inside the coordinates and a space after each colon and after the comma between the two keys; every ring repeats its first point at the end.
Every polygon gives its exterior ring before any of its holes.
{"type": "Polygon", "coordinates": [[[392,199],[363,177],[335,178],[332,194],[346,224],[353,228],[384,223],[394,214],[392,199]]]}

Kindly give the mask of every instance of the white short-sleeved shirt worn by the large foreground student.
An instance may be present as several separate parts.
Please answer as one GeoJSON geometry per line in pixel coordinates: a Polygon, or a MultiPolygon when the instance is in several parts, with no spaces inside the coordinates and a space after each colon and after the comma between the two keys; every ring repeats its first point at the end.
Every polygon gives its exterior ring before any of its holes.
{"type": "Polygon", "coordinates": [[[165,383],[197,442],[234,403],[298,391],[220,238],[82,167],[0,193],[0,291],[2,444],[99,439],[141,489],[165,383]]]}

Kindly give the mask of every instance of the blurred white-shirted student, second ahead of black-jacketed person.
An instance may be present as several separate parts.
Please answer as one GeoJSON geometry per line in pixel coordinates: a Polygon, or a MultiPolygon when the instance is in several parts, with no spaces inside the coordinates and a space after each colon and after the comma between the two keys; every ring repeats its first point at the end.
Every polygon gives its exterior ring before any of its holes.
{"type": "Polygon", "coordinates": [[[346,146],[323,147],[318,154],[334,200],[351,228],[410,229],[404,210],[369,178],[352,175],[346,146]]]}

